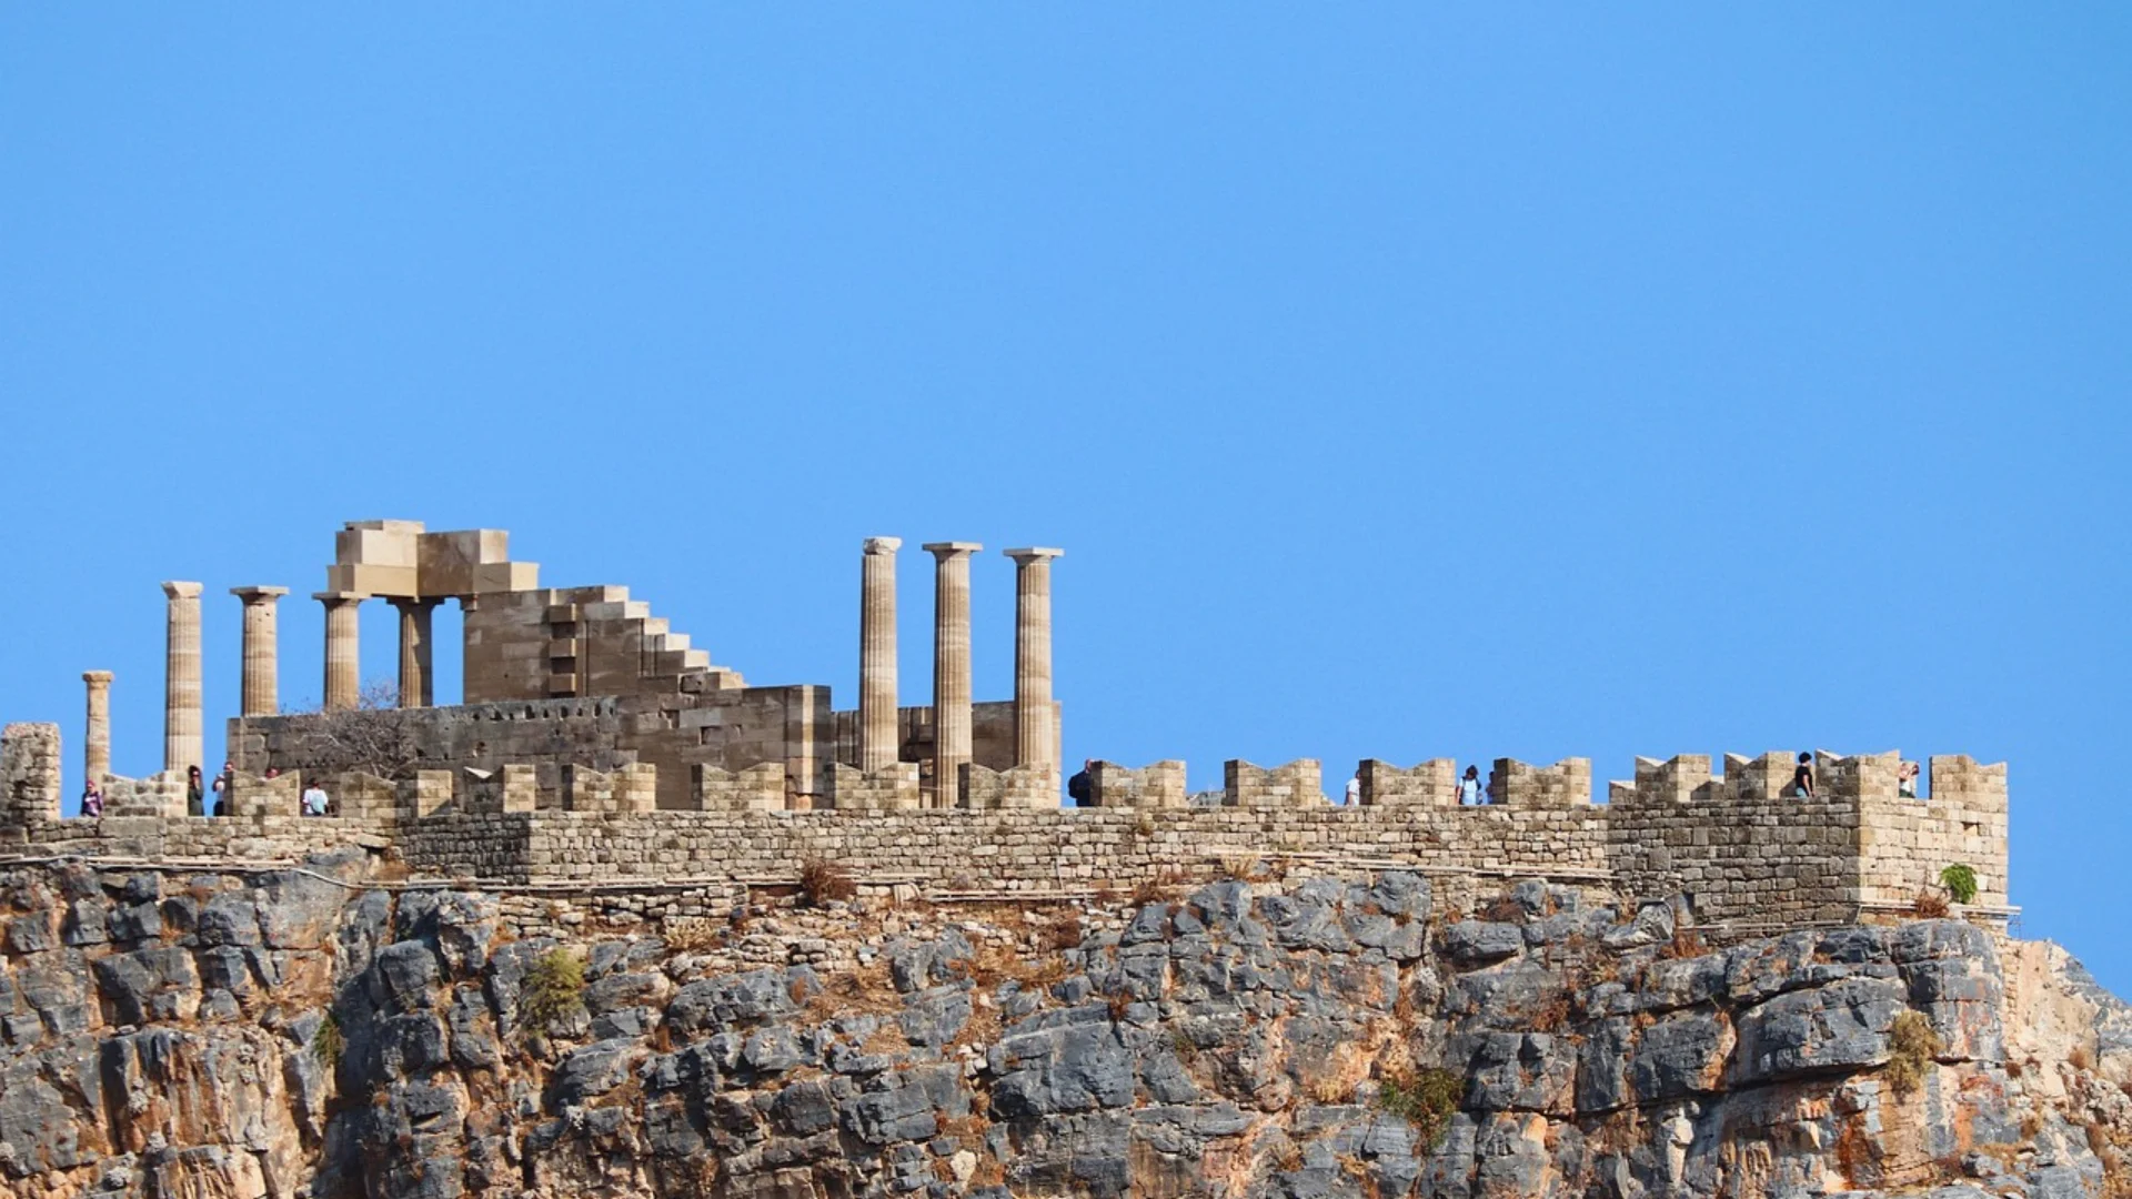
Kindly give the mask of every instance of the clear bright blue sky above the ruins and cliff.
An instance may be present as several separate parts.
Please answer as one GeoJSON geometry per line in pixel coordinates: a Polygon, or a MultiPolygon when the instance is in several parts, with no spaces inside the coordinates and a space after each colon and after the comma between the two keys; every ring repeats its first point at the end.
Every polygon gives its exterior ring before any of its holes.
{"type": "MultiPolygon", "coordinates": [[[[0,715],[497,525],[755,683],[1057,544],[1070,760],[2008,760],[2123,932],[2132,9],[0,11],[0,715]]],[[[450,619],[446,621],[450,625],[450,619]]],[[[320,612],[281,689],[318,696],[320,612]]],[[[371,606],[365,674],[390,674],[371,606]]],[[[456,693],[456,664],[443,664],[456,693]]]]}

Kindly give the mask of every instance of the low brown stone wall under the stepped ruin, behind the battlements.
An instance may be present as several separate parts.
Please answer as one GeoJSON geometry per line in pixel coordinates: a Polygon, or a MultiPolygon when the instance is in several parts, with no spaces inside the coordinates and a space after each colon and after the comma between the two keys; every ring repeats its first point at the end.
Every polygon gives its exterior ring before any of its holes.
{"type": "MultiPolygon", "coordinates": [[[[486,602],[486,600],[484,600],[486,602]]],[[[704,676],[691,676],[691,681],[704,676]]],[[[284,774],[335,753],[333,740],[394,742],[420,749],[422,762],[501,770],[533,766],[542,796],[561,802],[563,766],[614,772],[629,764],[659,768],[659,806],[689,809],[689,768],[746,770],[782,764],[800,794],[827,792],[823,755],[831,732],[827,687],[736,687],[608,696],[593,700],[514,700],[446,708],[379,708],[239,717],[230,721],[239,770],[284,774]]]]}

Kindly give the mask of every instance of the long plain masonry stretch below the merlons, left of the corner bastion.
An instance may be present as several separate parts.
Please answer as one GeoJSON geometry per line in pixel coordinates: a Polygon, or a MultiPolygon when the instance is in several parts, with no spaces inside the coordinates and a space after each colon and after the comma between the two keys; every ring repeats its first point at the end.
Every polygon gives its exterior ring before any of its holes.
{"type": "Polygon", "coordinates": [[[537,879],[789,881],[808,860],[861,883],[932,888],[1130,890],[1149,879],[1211,879],[1232,862],[1420,864],[1452,875],[1603,877],[1605,813],[1546,809],[1021,809],[866,813],[676,813],[633,817],[542,811],[514,821],[443,815],[403,836],[422,875],[537,879]],[[522,838],[518,847],[507,843],[522,838]],[[522,851],[520,851],[522,849],[522,851]],[[499,870],[507,870],[499,875],[499,870]]]}

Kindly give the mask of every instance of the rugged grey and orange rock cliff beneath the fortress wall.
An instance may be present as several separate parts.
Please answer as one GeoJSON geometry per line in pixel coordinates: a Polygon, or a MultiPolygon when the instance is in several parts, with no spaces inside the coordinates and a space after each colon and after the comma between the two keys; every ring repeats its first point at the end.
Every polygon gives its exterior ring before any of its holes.
{"type": "Polygon", "coordinates": [[[0,902],[6,1195],[2074,1197],[2132,1146],[2132,1013],[1953,920],[1706,947],[1407,873],[601,920],[360,851],[0,902]]]}

